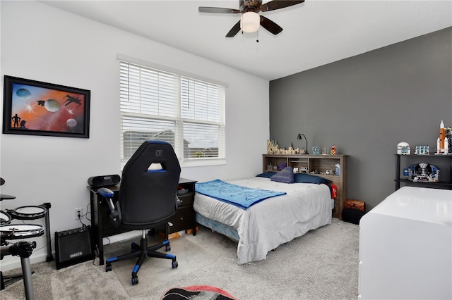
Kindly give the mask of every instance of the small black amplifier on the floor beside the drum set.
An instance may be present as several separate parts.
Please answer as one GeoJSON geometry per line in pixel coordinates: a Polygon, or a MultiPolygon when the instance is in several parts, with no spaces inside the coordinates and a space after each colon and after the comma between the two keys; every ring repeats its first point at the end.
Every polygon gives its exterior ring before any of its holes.
{"type": "Polygon", "coordinates": [[[57,270],[94,259],[91,227],[88,225],[55,232],[55,254],[57,270]]]}

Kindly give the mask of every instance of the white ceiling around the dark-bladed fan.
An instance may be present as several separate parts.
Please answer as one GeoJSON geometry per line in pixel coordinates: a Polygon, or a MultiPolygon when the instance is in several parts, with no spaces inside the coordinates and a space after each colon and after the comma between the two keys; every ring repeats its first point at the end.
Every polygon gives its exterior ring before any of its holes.
{"type": "Polygon", "coordinates": [[[267,80],[452,26],[451,0],[307,0],[261,13],[283,27],[279,35],[261,27],[233,38],[225,35],[238,14],[199,13],[198,6],[238,9],[238,0],[41,2],[267,80]]]}

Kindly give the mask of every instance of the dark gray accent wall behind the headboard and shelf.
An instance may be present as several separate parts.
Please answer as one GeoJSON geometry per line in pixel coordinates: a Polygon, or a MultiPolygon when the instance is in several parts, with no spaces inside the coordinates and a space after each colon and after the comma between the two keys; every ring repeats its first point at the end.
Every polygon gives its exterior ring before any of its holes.
{"type": "Polygon", "coordinates": [[[335,144],[349,155],[347,198],[368,211],[395,191],[397,144],[436,148],[441,119],[452,127],[451,44],[448,27],[271,81],[270,138],[304,148],[303,133],[309,154],[335,144]]]}

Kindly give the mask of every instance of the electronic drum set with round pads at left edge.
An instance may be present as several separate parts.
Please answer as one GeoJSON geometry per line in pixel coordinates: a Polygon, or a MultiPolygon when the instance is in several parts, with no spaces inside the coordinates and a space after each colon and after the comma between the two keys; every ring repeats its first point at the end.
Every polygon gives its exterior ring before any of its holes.
{"type": "MultiPolygon", "coordinates": [[[[4,185],[3,178],[0,178],[0,185],[4,185]]],[[[16,196],[0,194],[0,201],[16,199],[16,196]]],[[[45,227],[47,230],[47,261],[53,261],[52,246],[49,232],[49,203],[44,203],[39,206],[20,206],[15,209],[7,209],[0,211],[0,246],[1,258],[12,255],[19,256],[22,266],[22,274],[3,276],[0,271],[1,289],[11,285],[23,278],[25,287],[25,299],[35,299],[32,285],[32,270],[30,267],[30,256],[33,249],[36,248],[36,242],[27,242],[22,239],[30,239],[32,237],[40,237],[44,235],[44,227],[37,224],[11,224],[12,220],[36,220],[45,218],[45,227]],[[11,243],[10,240],[18,240],[18,242],[11,243]],[[12,245],[11,245],[12,244],[12,245]]]]}

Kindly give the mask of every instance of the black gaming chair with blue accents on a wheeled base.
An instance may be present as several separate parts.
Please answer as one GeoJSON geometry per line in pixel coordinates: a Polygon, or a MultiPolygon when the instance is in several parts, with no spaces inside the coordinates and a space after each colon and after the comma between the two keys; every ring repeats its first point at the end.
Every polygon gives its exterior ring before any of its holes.
{"type": "Polygon", "coordinates": [[[171,144],[147,141],[141,144],[122,171],[121,188],[116,204],[112,202],[113,192],[100,188],[97,192],[107,198],[110,217],[115,227],[125,230],[142,230],[140,245],[132,243],[131,253],[108,258],[105,271],[112,270],[112,263],[129,258],[138,258],[132,271],[131,284],[138,284],[138,270],[148,256],[172,260],[177,268],[176,256],[157,252],[165,246],[169,251],[169,240],[148,247],[146,230],[165,224],[176,213],[178,199],[177,185],[181,168],[171,144]]]}

